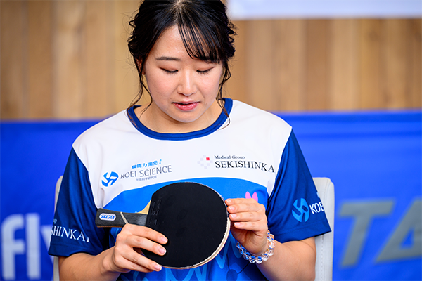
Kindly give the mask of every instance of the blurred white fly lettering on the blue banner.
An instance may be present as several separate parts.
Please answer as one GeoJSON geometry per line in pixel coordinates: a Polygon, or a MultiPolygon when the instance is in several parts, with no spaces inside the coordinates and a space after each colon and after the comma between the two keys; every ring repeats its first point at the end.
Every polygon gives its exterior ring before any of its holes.
{"type": "Polygon", "coordinates": [[[27,277],[30,280],[41,278],[41,239],[46,249],[50,246],[51,226],[40,226],[39,214],[11,214],[1,223],[1,271],[2,280],[16,279],[15,257],[26,256],[27,277]],[[48,228],[49,235],[46,235],[48,228]],[[25,230],[25,239],[16,239],[15,234],[25,230]]]}

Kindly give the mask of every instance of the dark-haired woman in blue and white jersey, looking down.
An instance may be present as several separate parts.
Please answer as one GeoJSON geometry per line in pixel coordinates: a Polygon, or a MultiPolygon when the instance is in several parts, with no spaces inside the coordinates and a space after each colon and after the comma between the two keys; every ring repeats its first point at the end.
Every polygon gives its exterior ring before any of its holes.
{"type": "Polygon", "coordinates": [[[129,50],[151,103],[135,105],[141,87],[127,110],[73,144],[49,251],[60,256],[60,280],[314,279],[314,236],[330,228],[324,212],[309,211],[320,200],[291,127],[222,98],[235,34],[225,9],[220,1],[141,4],[129,50]],[[165,254],[161,233],[96,228],[98,208],[140,211],[174,181],[203,183],[226,198],[231,235],[209,263],[162,268],[142,255],[165,254]],[[242,258],[269,251],[259,264],[242,258]]]}

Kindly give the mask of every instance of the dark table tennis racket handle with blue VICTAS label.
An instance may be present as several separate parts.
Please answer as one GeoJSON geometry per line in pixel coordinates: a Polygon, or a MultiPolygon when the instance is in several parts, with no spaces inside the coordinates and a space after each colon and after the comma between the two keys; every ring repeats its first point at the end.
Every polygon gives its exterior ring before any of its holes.
{"type": "Polygon", "coordinates": [[[95,217],[95,224],[98,228],[122,228],[126,223],[145,226],[146,217],[146,214],[123,213],[100,208],[95,217]]]}

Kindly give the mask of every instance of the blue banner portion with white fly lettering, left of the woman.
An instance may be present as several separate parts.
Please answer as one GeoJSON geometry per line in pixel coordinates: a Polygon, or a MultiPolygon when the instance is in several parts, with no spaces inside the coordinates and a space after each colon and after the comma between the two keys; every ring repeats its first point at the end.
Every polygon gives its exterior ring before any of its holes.
{"type": "Polygon", "coordinates": [[[54,190],[75,138],[95,122],[1,122],[0,280],[52,280],[54,190]]]}

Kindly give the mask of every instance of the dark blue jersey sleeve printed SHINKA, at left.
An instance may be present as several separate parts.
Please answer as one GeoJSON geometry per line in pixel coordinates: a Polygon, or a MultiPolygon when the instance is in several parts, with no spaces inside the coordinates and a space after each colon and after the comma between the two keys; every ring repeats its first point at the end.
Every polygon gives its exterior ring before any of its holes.
{"type": "Polygon", "coordinates": [[[88,171],[72,149],[58,195],[49,254],[101,253],[108,235],[95,225],[96,210],[88,171]]]}

